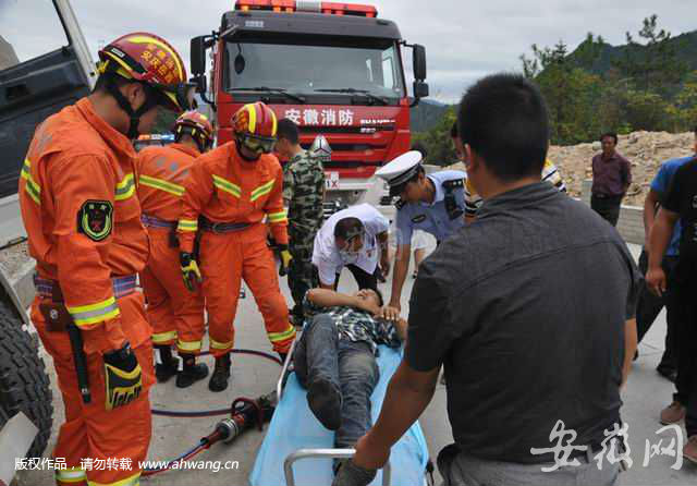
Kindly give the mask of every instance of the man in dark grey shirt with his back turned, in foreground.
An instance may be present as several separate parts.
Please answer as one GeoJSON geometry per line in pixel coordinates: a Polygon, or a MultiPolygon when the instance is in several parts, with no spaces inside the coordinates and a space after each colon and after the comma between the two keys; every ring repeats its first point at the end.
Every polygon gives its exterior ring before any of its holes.
{"type": "Polygon", "coordinates": [[[541,181],[549,122],[537,87],[488,76],[457,118],[484,204],[421,264],[404,360],[351,463],[384,464],[442,365],[455,439],[438,458],[445,485],[614,485],[619,464],[601,451],[621,455],[606,432],[622,424],[636,349],[634,260],[600,216],[541,181]],[[561,428],[573,467],[554,454],[561,428]]]}

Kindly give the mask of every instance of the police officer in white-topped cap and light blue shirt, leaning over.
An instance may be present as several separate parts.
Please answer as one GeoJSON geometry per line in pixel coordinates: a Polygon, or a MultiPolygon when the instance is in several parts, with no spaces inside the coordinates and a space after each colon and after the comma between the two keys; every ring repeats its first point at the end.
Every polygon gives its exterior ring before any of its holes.
{"type": "Polygon", "coordinates": [[[388,304],[398,311],[402,308],[400,299],[408,270],[414,230],[431,233],[440,242],[465,224],[465,172],[443,170],[426,175],[421,162],[421,154],[412,150],[376,172],[390,184],[390,196],[400,196],[396,204],[396,259],[388,304]]]}

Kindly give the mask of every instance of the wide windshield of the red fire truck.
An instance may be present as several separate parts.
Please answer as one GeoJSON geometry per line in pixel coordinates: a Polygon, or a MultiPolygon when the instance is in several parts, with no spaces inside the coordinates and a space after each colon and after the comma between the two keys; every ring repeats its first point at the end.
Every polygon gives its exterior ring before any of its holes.
{"type": "Polygon", "coordinates": [[[280,44],[244,39],[227,45],[225,86],[234,93],[273,86],[308,102],[314,96],[379,97],[398,104],[404,95],[402,63],[392,40],[280,44]],[[358,47],[356,47],[358,46],[358,47]],[[346,89],[351,88],[351,89],[346,89]]]}

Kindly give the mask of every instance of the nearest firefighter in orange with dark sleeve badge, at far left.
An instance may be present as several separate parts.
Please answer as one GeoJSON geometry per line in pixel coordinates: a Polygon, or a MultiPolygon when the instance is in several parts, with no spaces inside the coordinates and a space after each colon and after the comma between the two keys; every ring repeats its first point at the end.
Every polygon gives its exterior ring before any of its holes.
{"type": "Polygon", "coordinates": [[[136,290],[148,235],[130,138],[149,131],[158,107],[185,109],[188,87],[180,56],[152,34],[120,37],[99,58],[93,94],[37,127],[20,204],[37,262],[32,320],[53,357],[65,409],[53,454],[69,469],[56,471],[56,482],[133,486],[150,442],[154,377],[151,331],[136,290]],[[81,372],[90,399],[78,390],[81,372]],[[83,470],[89,460],[119,467],[83,470]]]}

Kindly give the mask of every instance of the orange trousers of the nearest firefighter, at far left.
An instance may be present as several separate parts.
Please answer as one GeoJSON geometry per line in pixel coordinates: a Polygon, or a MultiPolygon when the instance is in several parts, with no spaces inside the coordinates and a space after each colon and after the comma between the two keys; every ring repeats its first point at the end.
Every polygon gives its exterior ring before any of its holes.
{"type": "Polygon", "coordinates": [[[133,402],[112,411],[105,408],[105,372],[101,355],[86,355],[91,402],[85,404],[77,390],[77,376],[68,332],[51,332],[46,329],[46,321],[38,309],[40,302],[42,301],[39,296],[34,300],[32,320],[46,351],[53,359],[58,387],[65,409],[65,423],[58,433],[53,457],[64,458],[68,470],[56,472],[56,484],[138,485],[138,461],[145,460],[150,445],[151,415],[148,390],[155,382],[151,331],[145,317],[143,294],[136,292],[117,301],[121,311],[122,330],[143,369],[143,391],[133,402]]]}

